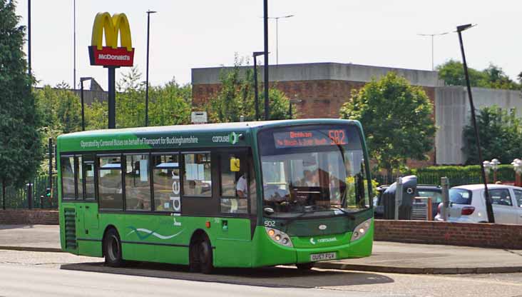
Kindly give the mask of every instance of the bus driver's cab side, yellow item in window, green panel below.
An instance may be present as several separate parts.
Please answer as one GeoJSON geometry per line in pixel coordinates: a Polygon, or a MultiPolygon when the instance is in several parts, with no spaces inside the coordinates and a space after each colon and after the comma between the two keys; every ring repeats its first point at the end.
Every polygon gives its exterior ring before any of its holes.
{"type": "Polygon", "coordinates": [[[222,251],[230,254],[221,258],[225,265],[249,266],[251,261],[251,226],[249,216],[250,162],[247,161],[247,150],[236,149],[218,153],[218,181],[220,182],[219,213],[215,223],[218,231],[218,255],[222,251]],[[240,252],[237,252],[240,251],[240,252]]]}

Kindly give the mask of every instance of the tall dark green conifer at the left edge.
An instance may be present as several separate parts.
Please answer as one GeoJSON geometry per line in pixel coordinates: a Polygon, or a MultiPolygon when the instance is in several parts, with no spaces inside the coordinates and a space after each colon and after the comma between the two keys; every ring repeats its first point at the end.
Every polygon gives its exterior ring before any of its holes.
{"type": "Polygon", "coordinates": [[[21,186],[42,158],[32,78],[24,55],[25,27],[14,1],[0,0],[0,181],[21,186]]]}

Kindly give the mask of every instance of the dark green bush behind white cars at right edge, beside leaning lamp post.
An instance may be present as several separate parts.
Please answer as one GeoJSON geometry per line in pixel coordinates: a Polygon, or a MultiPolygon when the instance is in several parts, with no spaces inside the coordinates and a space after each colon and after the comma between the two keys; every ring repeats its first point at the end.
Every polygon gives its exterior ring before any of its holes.
{"type": "MultiPolygon", "coordinates": [[[[508,112],[498,106],[484,107],[477,115],[478,136],[481,139],[482,157],[498,158],[501,163],[511,163],[522,156],[522,123],[516,111],[508,112]]],[[[464,128],[464,152],[466,163],[478,163],[475,131],[472,124],[464,128]]]]}

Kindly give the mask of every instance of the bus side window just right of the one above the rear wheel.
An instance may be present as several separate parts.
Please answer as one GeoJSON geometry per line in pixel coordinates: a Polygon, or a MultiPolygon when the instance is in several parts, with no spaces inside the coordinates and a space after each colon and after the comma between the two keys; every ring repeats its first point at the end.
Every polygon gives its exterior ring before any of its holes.
{"type": "Polygon", "coordinates": [[[127,155],[125,171],[126,208],[150,211],[148,155],[127,155]]]}

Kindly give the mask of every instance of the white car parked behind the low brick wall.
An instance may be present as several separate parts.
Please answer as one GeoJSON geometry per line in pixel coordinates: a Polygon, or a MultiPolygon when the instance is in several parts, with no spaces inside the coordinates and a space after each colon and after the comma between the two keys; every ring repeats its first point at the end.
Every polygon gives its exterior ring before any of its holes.
{"type": "MultiPolygon", "coordinates": [[[[516,223],[522,225],[522,188],[518,186],[488,185],[493,204],[495,223],[516,223]]],[[[463,223],[487,223],[484,185],[454,186],[449,189],[448,221],[463,223]]],[[[439,205],[439,208],[441,205],[439,205]]],[[[441,213],[436,220],[441,221],[441,213]]]]}

